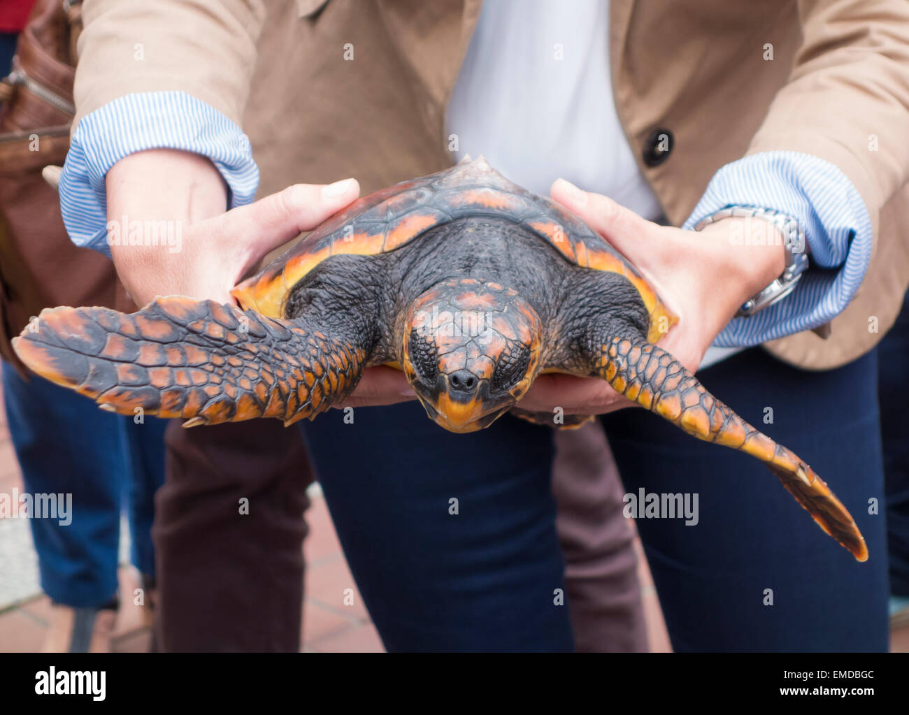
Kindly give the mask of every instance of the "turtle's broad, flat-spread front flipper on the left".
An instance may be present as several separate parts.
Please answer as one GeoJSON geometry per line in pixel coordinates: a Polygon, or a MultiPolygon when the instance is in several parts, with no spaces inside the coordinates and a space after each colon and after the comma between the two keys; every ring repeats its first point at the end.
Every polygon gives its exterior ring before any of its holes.
{"type": "Polygon", "coordinates": [[[303,320],[180,296],[132,314],[45,309],[13,347],[33,371],[105,410],[141,408],[186,426],[313,417],[354,390],[365,362],[363,347],[303,320]]]}

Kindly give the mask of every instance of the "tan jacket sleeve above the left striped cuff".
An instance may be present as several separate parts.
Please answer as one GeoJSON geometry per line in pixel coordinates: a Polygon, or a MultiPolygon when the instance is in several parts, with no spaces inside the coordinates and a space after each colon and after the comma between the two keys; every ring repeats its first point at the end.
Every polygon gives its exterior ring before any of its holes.
{"type": "Polygon", "coordinates": [[[235,124],[249,95],[260,0],[85,0],[75,122],[126,94],[185,92],[235,124]]]}

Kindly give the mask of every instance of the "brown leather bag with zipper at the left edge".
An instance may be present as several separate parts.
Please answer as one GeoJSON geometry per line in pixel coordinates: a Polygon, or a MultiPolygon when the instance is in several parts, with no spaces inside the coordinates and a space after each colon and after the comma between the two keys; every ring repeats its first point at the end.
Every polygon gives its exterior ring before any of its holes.
{"type": "Polygon", "coordinates": [[[0,84],[0,355],[25,374],[9,343],[43,308],[135,306],[114,264],[66,235],[42,169],[64,163],[73,121],[77,2],[38,0],[0,84]]]}

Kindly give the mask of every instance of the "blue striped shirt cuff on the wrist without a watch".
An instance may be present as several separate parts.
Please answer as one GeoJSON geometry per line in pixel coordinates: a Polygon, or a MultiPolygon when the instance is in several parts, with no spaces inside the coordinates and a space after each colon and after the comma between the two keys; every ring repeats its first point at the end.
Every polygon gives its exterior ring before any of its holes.
{"type": "Polygon", "coordinates": [[[110,255],[105,175],[145,149],[207,156],[230,190],[231,208],[249,204],[259,184],[249,139],[214,107],[185,92],[126,94],[76,126],[60,176],[60,209],[73,243],[110,255]]]}

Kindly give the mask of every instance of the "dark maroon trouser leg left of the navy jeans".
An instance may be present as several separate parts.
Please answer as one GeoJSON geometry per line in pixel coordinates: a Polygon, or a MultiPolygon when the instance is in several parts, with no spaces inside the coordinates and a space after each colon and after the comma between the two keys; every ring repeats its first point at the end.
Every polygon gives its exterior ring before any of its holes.
{"type": "Polygon", "coordinates": [[[155,499],[157,650],[295,651],[312,472],[277,420],[167,426],[155,499]]]}

